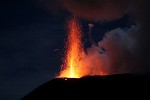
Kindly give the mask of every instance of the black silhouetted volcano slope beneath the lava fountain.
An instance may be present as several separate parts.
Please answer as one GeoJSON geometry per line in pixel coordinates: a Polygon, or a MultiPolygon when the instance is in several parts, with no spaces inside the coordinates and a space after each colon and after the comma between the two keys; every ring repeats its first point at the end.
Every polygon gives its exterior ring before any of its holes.
{"type": "Polygon", "coordinates": [[[149,80],[149,75],[137,74],[85,76],[79,79],[56,78],[36,88],[21,100],[137,97],[140,93],[150,91],[149,80]]]}

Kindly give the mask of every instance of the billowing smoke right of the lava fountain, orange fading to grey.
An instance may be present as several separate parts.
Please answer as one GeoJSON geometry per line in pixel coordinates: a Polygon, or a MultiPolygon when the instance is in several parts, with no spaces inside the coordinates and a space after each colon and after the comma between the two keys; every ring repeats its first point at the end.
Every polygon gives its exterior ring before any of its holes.
{"type": "Polygon", "coordinates": [[[135,52],[138,42],[134,34],[136,26],[117,28],[105,33],[102,41],[81,54],[80,69],[83,75],[108,75],[137,73],[139,71],[135,52]]]}

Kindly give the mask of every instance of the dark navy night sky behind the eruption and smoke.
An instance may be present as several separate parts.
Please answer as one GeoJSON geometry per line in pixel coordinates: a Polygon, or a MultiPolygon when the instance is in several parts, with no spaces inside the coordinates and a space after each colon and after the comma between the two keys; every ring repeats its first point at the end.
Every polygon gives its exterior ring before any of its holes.
{"type": "MultiPolygon", "coordinates": [[[[55,0],[49,4],[54,7],[31,0],[0,1],[0,100],[17,100],[59,74],[66,19],[72,14],[56,9],[55,0]]],[[[107,22],[82,18],[80,22],[85,40],[88,24],[95,25],[92,38],[96,43],[107,31],[135,24],[128,15],[107,22]]]]}

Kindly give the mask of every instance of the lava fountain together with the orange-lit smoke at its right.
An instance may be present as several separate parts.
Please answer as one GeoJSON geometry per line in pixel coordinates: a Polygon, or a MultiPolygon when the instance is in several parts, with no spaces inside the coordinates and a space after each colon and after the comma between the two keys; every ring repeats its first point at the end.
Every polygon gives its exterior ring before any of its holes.
{"type": "Polygon", "coordinates": [[[88,50],[88,53],[85,53],[81,26],[76,17],[68,21],[67,34],[65,58],[58,77],[80,78],[86,75],[106,75],[98,50],[91,49],[88,50]]]}

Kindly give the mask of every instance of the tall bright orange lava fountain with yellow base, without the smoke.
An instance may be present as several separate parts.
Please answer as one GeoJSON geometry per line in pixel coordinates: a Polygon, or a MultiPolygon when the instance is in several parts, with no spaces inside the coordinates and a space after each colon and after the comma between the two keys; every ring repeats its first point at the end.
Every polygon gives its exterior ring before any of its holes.
{"type": "Polygon", "coordinates": [[[79,61],[80,54],[84,52],[82,45],[81,26],[77,18],[73,17],[68,21],[68,36],[66,43],[66,57],[62,65],[59,77],[80,78],[79,61]]]}

